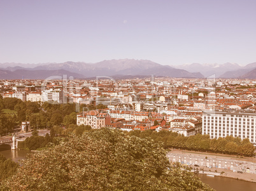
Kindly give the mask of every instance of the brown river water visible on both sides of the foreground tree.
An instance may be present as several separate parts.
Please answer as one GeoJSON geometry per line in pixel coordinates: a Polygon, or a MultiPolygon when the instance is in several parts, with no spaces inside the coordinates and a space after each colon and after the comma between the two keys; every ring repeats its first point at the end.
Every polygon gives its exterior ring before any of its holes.
{"type": "MultiPolygon", "coordinates": [[[[4,150],[0,148],[0,153],[3,154],[6,158],[11,158],[13,161],[18,162],[21,159],[25,159],[25,155],[30,154],[29,150],[4,150]]],[[[197,175],[201,181],[210,185],[217,191],[255,191],[256,183],[249,181],[236,180],[234,178],[226,178],[220,176],[206,176],[206,175],[197,175]]]]}

